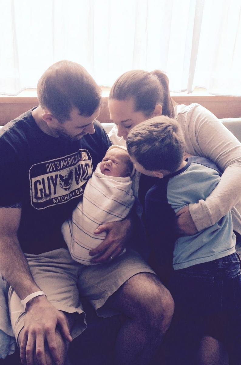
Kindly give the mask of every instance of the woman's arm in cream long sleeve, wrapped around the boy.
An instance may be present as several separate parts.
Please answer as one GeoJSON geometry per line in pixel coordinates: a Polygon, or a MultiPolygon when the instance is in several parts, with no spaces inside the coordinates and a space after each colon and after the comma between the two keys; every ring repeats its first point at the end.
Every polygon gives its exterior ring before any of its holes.
{"type": "Polygon", "coordinates": [[[177,119],[183,128],[187,152],[209,158],[223,171],[210,196],[189,205],[191,218],[201,231],[218,222],[241,200],[241,143],[201,105],[191,105],[187,113],[178,113],[177,119]]]}

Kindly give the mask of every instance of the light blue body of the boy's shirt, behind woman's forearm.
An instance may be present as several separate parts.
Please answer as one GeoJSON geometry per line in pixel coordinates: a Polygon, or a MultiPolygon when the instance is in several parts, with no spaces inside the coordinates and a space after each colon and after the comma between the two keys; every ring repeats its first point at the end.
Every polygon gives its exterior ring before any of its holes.
{"type": "MultiPolygon", "coordinates": [[[[170,177],[167,185],[167,200],[175,212],[187,204],[205,200],[220,181],[217,171],[190,161],[170,177]]],[[[229,212],[212,227],[192,236],[179,237],[174,245],[173,268],[183,269],[230,255],[235,252],[235,243],[229,212]]]]}

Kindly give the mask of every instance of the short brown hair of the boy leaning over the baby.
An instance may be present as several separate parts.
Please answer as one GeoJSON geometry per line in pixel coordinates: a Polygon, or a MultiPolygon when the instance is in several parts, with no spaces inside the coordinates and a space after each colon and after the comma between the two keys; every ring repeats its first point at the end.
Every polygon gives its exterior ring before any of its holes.
{"type": "Polygon", "coordinates": [[[176,171],[185,151],[180,125],[164,115],[132,128],[127,135],[126,146],[130,156],[149,171],[176,171]]]}

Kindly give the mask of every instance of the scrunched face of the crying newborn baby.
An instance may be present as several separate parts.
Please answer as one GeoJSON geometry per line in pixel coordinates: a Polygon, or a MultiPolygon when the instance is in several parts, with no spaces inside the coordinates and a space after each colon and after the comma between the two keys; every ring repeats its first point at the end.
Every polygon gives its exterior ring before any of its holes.
{"type": "Polygon", "coordinates": [[[127,166],[127,152],[120,148],[113,148],[106,153],[100,163],[100,171],[107,176],[126,177],[129,173],[127,166]]]}

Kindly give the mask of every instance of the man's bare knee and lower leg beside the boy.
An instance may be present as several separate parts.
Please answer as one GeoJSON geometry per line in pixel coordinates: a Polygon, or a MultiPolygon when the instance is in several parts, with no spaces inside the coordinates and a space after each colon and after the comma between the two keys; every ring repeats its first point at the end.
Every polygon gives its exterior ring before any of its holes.
{"type": "Polygon", "coordinates": [[[106,304],[128,317],[116,339],[115,364],[148,364],[171,323],[174,301],[170,292],[154,274],[140,273],[127,280],[106,304]]]}

